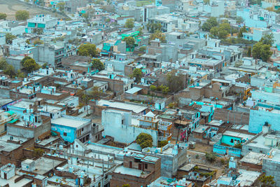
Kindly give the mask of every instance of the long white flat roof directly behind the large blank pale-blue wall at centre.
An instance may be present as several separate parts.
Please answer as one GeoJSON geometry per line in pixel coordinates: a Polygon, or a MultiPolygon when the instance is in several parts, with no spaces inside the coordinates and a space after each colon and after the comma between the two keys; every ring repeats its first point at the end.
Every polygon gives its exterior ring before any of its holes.
{"type": "Polygon", "coordinates": [[[109,106],[111,108],[116,109],[124,109],[127,111],[133,111],[134,113],[140,113],[147,109],[147,106],[140,105],[140,104],[131,104],[131,103],[123,103],[123,102],[110,102],[108,100],[101,99],[97,102],[99,106],[109,106]]]}

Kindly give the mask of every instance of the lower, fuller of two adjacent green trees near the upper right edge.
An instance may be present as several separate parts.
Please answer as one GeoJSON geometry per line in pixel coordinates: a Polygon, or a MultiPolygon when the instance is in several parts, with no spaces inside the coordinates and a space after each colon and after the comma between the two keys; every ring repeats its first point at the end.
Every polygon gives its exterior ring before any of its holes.
{"type": "Polygon", "coordinates": [[[254,59],[261,59],[263,62],[267,62],[269,57],[272,55],[269,45],[263,44],[262,42],[255,43],[253,45],[252,56],[254,59]]]}

